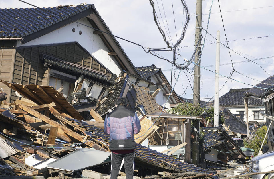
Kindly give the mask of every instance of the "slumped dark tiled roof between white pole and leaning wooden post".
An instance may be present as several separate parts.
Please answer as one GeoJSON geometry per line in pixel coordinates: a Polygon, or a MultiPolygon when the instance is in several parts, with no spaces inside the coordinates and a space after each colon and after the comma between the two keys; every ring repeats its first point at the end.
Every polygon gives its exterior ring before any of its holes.
{"type": "Polygon", "coordinates": [[[242,119],[239,119],[235,115],[233,115],[229,109],[221,109],[220,113],[223,114],[225,119],[226,127],[229,126],[229,131],[240,133],[240,134],[247,134],[247,127],[245,122],[242,119]]]}

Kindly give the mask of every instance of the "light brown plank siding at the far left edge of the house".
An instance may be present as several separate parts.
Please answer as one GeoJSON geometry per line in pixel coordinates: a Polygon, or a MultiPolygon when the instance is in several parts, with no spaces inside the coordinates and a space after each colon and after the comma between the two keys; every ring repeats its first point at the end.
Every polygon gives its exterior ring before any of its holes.
{"type": "MultiPolygon", "coordinates": [[[[11,82],[11,73],[15,58],[15,40],[0,40],[0,78],[3,81],[11,82]]],[[[0,87],[7,93],[7,100],[10,100],[11,89],[0,83],[0,87]]]]}

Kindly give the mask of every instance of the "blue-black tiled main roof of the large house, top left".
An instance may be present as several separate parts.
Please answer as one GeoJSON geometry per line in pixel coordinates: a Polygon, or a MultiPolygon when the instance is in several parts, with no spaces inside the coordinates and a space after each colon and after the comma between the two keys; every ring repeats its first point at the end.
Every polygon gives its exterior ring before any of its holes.
{"type": "Polygon", "coordinates": [[[86,4],[42,8],[52,13],[39,8],[0,9],[0,37],[24,37],[89,8],[91,8],[91,5],[86,4]]]}

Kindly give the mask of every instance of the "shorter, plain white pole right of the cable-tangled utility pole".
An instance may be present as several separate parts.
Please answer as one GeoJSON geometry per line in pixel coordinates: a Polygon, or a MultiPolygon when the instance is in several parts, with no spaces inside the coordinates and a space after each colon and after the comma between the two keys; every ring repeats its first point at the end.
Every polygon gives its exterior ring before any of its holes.
{"type": "Polygon", "coordinates": [[[220,73],[220,31],[217,31],[216,68],[215,68],[214,127],[219,126],[219,73],[220,73]]]}

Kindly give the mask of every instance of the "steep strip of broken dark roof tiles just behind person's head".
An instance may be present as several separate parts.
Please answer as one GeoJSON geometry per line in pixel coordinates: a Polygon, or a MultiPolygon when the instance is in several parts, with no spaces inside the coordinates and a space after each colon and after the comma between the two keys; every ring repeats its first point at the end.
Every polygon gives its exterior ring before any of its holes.
{"type": "Polygon", "coordinates": [[[115,89],[108,93],[108,95],[106,96],[106,100],[102,104],[100,104],[97,110],[100,115],[106,113],[109,109],[115,106],[115,100],[118,97],[121,97],[124,92],[127,78],[128,75],[124,78],[121,78],[120,82],[116,84],[115,89]]]}

